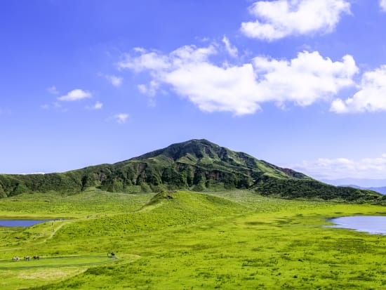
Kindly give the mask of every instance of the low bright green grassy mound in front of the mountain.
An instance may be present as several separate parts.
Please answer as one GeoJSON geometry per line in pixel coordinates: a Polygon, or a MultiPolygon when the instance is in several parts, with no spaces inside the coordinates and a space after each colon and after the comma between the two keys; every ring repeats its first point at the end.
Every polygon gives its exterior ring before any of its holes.
{"type": "Polygon", "coordinates": [[[56,244],[73,239],[154,232],[244,211],[246,207],[222,197],[195,192],[160,192],[140,211],[82,218],[67,223],[49,242],[56,244]]]}

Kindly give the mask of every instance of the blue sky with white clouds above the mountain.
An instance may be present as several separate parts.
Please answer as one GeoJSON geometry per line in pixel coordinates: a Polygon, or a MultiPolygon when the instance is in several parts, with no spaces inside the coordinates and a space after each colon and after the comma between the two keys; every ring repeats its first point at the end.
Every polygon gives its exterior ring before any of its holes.
{"type": "Polygon", "coordinates": [[[386,176],[385,0],[1,4],[1,173],[206,138],[314,178],[386,176]]]}

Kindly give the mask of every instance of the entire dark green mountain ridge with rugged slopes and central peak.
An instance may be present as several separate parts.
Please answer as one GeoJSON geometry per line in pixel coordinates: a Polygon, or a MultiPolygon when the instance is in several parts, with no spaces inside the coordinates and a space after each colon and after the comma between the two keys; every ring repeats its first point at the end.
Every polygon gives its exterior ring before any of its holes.
{"type": "Polygon", "coordinates": [[[87,187],[110,192],[251,189],[261,195],[345,201],[375,201],[382,197],[369,190],[326,185],[208,140],[189,140],[124,162],[65,173],[0,175],[1,197],[22,192],[75,193],[87,187]]]}

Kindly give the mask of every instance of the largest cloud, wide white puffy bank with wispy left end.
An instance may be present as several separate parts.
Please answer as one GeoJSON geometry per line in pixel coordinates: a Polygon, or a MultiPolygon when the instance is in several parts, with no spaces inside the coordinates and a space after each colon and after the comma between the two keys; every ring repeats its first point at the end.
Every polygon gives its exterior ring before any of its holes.
{"type": "Polygon", "coordinates": [[[142,93],[155,95],[164,84],[202,111],[236,115],[252,114],[263,102],[306,106],[331,98],[352,86],[358,71],[350,55],[333,62],[317,51],[298,53],[292,60],[260,56],[241,65],[211,61],[217,54],[213,45],[182,46],[168,54],[143,50],[125,55],[119,67],[149,73],[149,85],[138,86],[142,93]]]}

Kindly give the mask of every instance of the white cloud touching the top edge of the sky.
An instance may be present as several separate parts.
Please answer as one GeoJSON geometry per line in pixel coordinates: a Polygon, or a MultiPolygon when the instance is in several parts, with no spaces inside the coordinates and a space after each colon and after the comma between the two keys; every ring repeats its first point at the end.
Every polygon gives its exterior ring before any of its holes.
{"type": "Polygon", "coordinates": [[[350,14],[346,0],[257,1],[250,8],[257,18],[243,22],[246,37],[272,41],[290,35],[332,32],[342,14],[350,14]]]}

